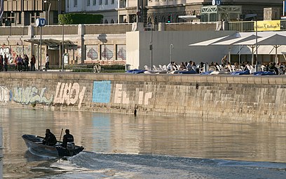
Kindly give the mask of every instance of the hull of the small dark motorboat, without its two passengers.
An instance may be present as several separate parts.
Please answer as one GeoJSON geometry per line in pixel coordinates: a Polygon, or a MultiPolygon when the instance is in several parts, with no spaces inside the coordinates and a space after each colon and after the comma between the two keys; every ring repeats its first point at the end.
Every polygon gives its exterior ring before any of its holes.
{"type": "Polygon", "coordinates": [[[75,146],[73,150],[67,150],[57,142],[55,146],[43,145],[43,138],[36,135],[22,135],[28,149],[33,150],[37,154],[45,154],[51,157],[71,157],[83,151],[83,147],[75,146]]]}

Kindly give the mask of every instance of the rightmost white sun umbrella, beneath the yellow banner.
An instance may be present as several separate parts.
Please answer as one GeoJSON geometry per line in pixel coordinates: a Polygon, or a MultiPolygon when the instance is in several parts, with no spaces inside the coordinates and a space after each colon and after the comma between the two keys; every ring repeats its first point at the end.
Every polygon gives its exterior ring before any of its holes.
{"type": "Polygon", "coordinates": [[[273,34],[268,37],[262,37],[257,39],[252,39],[250,41],[242,41],[235,43],[235,45],[246,45],[252,47],[252,56],[254,46],[273,46],[275,48],[275,62],[278,61],[277,49],[280,46],[286,45],[286,36],[281,34],[273,34]]]}

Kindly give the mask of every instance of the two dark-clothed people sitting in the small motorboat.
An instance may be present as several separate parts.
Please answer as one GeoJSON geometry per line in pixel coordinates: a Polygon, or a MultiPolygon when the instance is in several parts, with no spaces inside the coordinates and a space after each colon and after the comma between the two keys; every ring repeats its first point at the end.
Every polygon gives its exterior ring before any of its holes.
{"type": "MultiPolygon", "coordinates": [[[[67,147],[67,142],[74,142],[74,136],[69,133],[69,129],[65,130],[65,135],[62,138],[62,147],[67,147]]],[[[43,138],[43,145],[53,146],[57,144],[57,138],[50,132],[50,129],[46,129],[45,138],[43,138]]]]}

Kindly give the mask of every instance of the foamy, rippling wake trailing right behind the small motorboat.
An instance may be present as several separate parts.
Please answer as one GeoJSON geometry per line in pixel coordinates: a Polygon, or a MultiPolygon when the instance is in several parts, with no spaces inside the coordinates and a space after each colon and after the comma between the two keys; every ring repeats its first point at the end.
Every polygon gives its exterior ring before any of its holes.
{"type": "Polygon", "coordinates": [[[152,154],[81,152],[51,166],[48,178],[285,178],[286,164],[152,154]]]}

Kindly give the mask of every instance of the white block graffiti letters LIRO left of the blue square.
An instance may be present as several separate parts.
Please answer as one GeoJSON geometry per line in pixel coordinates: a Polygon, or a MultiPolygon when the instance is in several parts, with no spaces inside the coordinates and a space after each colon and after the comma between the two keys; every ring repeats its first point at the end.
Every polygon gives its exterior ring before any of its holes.
{"type": "Polygon", "coordinates": [[[83,86],[81,92],[78,83],[71,85],[65,83],[57,83],[57,90],[55,92],[54,103],[67,105],[74,105],[79,100],[79,109],[81,109],[81,103],[83,102],[84,94],[86,93],[86,86],[83,86]]]}

